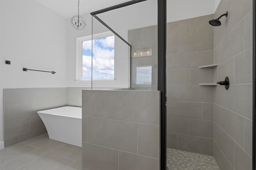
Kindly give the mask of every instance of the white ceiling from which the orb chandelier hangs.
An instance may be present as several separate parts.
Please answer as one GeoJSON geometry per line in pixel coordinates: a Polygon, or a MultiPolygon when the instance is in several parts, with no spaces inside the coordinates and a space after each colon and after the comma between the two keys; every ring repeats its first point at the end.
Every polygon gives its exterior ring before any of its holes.
{"type": "MultiPolygon", "coordinates": [[[[77,15],[78,2],[77,0],[36,0],[44,6],[50,8],[54,12],[60,14],[64,18],[71,18],[77,15]]],[[[108,8],[130,0],[80,0],[80,14],[86,14],[108,8]]]]}

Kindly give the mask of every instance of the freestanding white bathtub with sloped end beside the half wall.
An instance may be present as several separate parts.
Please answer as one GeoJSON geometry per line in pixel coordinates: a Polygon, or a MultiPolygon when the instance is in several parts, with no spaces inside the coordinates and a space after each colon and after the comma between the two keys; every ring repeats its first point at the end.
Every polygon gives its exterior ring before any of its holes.
{"type": "Polygon", "coordinates": [[[82,108],[59,107],[38,111],[50,139],[82,147],[82,108]]]}

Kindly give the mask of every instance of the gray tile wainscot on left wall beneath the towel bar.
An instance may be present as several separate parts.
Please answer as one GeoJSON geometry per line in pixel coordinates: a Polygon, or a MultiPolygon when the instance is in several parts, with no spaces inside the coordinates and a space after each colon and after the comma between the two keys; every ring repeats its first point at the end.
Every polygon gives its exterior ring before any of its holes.
{"type": "Polygon", "coordinates": [[[67,88],[4,89],[4,146],[46,133],[37,111],[67,105],[67,88]]]}

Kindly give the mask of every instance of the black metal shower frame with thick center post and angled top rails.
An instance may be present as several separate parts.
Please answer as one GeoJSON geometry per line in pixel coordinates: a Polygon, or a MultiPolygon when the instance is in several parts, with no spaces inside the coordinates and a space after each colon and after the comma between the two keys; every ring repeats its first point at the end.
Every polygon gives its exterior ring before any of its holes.
{"type": "MultiPolygon", "coordinates": [[[[105,25],[108,29],[111,29],[104,21],[100,20],[97,14],[136,4],[138,2],[143,2],[146,0],[131,0],[111,6],[109,8],[104,8],[90,14],[94,16],[100,23],[105,25]]],[[[158,90],[160,91],[160,158],[159,165],[160,170],[166,170],[166,0],[158,0],[158,90]]],[[[115,35],[118,33],[114,32],[115,35]]],[[[122,39],[122,37],[121,37],[122,39]]],[[[127,43],[124,39],[124,42],[127,43]]],[[[128,43],[127,43],[128,44],[128,43]]],[[[130,46],[130,44],[128,44],[130,46]]],[[[131,47],[131,46],[130,46],[131,47]]]]}

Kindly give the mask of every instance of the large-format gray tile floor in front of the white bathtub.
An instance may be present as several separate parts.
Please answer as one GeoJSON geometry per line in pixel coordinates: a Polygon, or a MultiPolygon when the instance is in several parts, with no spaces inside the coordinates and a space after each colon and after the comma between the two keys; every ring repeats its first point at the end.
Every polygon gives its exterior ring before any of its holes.
{"type": "Polygon", "coordinates": [[[48,134],[0,150],[0,170],[81,170],[82,148],[48,134]]]}

